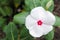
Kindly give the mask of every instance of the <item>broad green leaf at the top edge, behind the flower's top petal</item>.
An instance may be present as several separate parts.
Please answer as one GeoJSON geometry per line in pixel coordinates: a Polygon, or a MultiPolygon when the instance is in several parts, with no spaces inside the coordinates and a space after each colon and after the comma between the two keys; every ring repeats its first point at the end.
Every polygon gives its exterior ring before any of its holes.
{"type": "Polygon", "coordinates": [[[31,10],[41,5],[40,0],[25,0],[25,10],[31,10]]]}

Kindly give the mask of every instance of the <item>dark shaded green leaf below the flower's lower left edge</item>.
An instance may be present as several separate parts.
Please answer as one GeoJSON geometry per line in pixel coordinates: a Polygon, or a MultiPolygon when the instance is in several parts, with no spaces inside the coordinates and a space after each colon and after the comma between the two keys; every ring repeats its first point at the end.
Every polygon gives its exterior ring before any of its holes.
{"type": "Polygon", "coordinates": [[[20,31],[20,36],[21,40],[34,40],[25,26],[23,26],[22,30],[20,31]]]}

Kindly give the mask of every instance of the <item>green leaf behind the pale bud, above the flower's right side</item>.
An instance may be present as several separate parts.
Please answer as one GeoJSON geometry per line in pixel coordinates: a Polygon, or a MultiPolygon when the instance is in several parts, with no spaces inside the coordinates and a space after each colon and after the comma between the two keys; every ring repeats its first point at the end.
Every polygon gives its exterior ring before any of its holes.
{"type": "Polygon", "coordinates": [[[41,0],[41,6],[44,7],[46,10],[49,10],[52,12],[54,9],[54,2],[53,2],[53,0],[41,0]],[[47,5],[48,2],[50,2],[50,1],[51,1],[51,5],[50,4],[47,5]],[[46,8],[47,6],[48,6],[48,9],[46,8]]]}

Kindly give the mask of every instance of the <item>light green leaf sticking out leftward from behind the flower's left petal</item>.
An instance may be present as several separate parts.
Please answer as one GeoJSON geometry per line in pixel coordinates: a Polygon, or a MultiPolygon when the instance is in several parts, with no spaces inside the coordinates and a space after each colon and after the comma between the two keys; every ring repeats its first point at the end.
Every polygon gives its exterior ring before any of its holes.
{"type": "Polygon", "coordinates": [[[25,24],[25,18],[29,12],[22,12],[14,16],[13,21],[18,24],[25,24]]]}

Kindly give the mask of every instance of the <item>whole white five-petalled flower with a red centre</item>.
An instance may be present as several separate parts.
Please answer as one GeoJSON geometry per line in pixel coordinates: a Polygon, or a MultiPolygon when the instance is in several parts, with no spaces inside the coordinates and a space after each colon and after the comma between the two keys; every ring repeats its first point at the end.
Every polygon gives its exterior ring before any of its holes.
{"type": "Polygon", "coordinates": [[[25,26],[33,37],[41,37],[52,31],[54,23],[55,16],[51,12],[36,7],[26,17],[25,26]]]}

